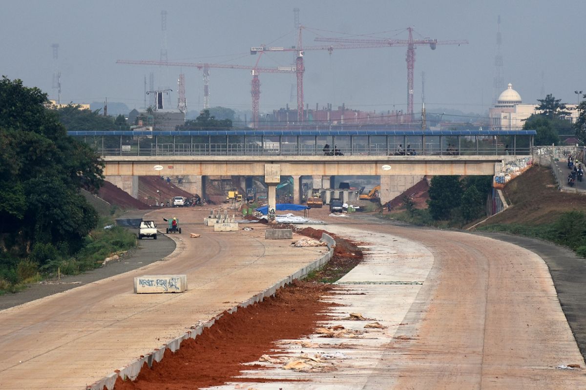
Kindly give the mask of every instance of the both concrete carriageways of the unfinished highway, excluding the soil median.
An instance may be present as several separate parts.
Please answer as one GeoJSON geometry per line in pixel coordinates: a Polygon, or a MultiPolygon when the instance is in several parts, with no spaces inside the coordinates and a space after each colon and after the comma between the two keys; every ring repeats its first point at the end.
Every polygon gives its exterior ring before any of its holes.
{"type": "MultiPolygon", "coordinates": [[[[178,214],[186,232],[204,234],[183,234],[168,260],[0,312],[0,387],[84,388],[322,255],[265,241],[260,230],[206,232],[201,213],[178,214]],[[132,294],[132,277],[147,272],[185,273],[190,290],[132,294]]],[[[386,328],[353,339],[335,371],[247,375],[276,377],[284,389],[586,388],[584,358],[535,253],[461,232],[333,218],[325,209],[311,217],[369,249],[340,285],[359,294],[335,299],[386,328]]],[[[332,351],[311,339],[315,351],[332,351]]]]}

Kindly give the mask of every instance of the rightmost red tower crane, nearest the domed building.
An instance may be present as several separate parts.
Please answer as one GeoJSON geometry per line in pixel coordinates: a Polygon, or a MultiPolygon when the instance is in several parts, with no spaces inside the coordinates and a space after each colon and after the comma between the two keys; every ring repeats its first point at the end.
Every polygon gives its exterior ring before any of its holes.
{"type": "Polygon", "coordinates": [[[442,40],[424,38],[413,39],[413,27],[407,27],[408,39],[350,39],[350,38],[315,38],[316,42],[336,42],[364,44],[366,47],[407,46],[407,114],[413,120],[413,71],[415,68],[415,46],[428,44],[435,50],[438,44],[468,44],[468,40],[442,40]]]}

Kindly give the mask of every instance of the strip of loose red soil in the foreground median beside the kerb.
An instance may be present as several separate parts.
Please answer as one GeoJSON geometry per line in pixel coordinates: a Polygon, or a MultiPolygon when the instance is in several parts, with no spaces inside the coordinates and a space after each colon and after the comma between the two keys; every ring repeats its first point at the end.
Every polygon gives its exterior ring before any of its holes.
{"type": "Polygon", "coordinates": [[[258,365],[242,364],[274,353],[275,341],[311,334],[318,321],[327,319],[321,313],[331,303],[321,297],[331,288],[331,285],[295,281],[263,302],[240,308],[233,314],[224,312],[196,339],[183,341],[176,353],[166,350],[163,360],[151,368],[145,363],[136,381],[118,378],[114,389],[197,389],[222,385],[241,370],[260,369],[258,365]]]}

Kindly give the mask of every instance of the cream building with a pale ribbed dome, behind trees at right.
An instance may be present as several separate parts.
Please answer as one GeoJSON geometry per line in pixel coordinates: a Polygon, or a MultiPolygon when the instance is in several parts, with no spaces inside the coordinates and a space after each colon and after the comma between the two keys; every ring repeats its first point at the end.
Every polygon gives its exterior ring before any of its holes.
{"type": "MultiPolygon", "coordinates": [[[[507,89],[500,95],[493,108],[490,108],[490,128],[493,130],[521,130],[525,120],[534,113],[539,113],[539,104],[523,104],[519,92],[513,89],[513,84],[507,85],[507,89]]],[[[577,117],[576,105],[567,104],[570,112],[568,116],[572,122],[577,117]]]]}

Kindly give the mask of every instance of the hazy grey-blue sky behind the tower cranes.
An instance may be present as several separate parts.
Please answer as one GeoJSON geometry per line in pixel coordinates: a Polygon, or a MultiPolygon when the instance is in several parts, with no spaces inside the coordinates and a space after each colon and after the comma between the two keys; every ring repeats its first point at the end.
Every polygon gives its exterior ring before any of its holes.
{"type": "MultiPolygon", "coordinates": [[[[317,36],[407,39],[467,39],[467,45],[419,46],[415,54],[415,112],[421,109],[421,72],[425,72],[428,112],[455,108],[486,112],[492,103],[497,18],[501,17],[503,77],[525,103],[536,103],[541,90],[567,103],[586,92],[583,48],[586,2],[569,0],[474,1],[8,1],[0,0],[0,73],[20,78],[56,98],[52,77],[62,74],[62,102],[144,102],[144,77],[155,74],[155,88],[173,89],[185,74],[188,109],[203,107],[202,72],[197,68],[116,64],[117,59],[159,60],[163,47],[161,11],[167,12],[169,61],[254,65],[251,46],[291,46],[295,7],[306,26],[304,45],[317,36]],[[373,34],[374,33],[374,34],[373,34]],[[52,44],[59,44],[59,58],[52,44]],[[542,78],[543,74],[543,78],[542,78]]],[[[346,103],[354,109],[407,108],[406,47],[307,51],[305,103],[346,103]]],[[[264,67],[294,63],[293,53],[261,58],[264,67]]],[[[295,107],[294,74],[261,74],[260,111],[289,103],[295,107]]],[[[210,70],[210,105],[250,109],[247,70],[210,70]]]]}

